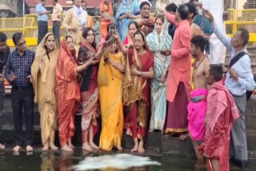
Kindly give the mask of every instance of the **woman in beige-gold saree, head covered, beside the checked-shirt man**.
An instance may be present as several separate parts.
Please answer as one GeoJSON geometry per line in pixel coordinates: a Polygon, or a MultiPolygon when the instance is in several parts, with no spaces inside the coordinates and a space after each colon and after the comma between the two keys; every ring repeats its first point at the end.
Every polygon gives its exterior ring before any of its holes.
{"type": "Polygon", "coordinates": [[[58,41],[54,34],[46,34],[38,45],[31,68],[34,87],[34,102],[40,113],[42,150],[58,148],[54,145],[58,123],[57,103],[54,95],[55,68],[59,54],[58,41]]]}

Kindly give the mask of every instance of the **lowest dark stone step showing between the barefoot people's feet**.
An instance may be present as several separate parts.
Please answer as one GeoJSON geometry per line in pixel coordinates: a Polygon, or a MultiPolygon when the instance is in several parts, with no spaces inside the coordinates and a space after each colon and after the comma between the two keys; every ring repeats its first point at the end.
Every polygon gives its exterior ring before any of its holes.
{"type": "MultiPolygon", "coordinates": [[[[99,133],[96,135],[94,141],[98,144],[99,133]]],[[[58,132],[55,135],[55,143],[59,146],[58,132]]],[[[2,129],[2,141],[8,146],[14,144],[14,130],[13,128],[4,125],[2,129]]],[[[81,130],[76,129],[73,138],[73,143],[76,146],[82,146],[81,130]]],[[[256,152],[256,131],[247,130],[247,144],[250,152],[256,152]]],[[[34,130],[34,145],[41,145],[40,127],[35,126],[34,130]]],[[[132,148],[134,142],[130,136],[124,133],[122,138],[122,147],[132,148]]],[[[186,138],[185,141],[180,141],[178,137],[167,137],[160,132],[148,133],[146,137],[146,149],[154,149],[158,153],[171,153],[171,154],[188,154],[194,155],[193,145],[190,138],[186,138]]]]}

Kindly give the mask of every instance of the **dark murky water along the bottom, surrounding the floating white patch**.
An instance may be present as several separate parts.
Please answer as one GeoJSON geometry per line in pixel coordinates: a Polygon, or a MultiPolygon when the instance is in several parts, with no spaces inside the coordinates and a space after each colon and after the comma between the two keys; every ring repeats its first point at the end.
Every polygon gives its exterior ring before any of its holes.
{"type": "MultiPolygon", "coordinates": [[[[0,153],[0,170],[1,171],[68,171],[71,166],[77,165],[79,161],[82,161],[85,157],[97,157],[104,155],[104,153],[82,153],[78,151],[76,153],[41,153],[34,152],[27,155],[25,152],[19,155],[14,155],[11,152],[0,153]]],[[[162,155],[162,154],[146,154],[152,161],[158,161],[161,165],[143,166],[139,168],[126,169],[129,171],[206,171],[205,165],[197,166],[197,161],[194,157],[186,157],[184,155],[162,155]]],[[[136,161],[134,161],[136,162],[136,161]]],[[[104,171],[118,171],[120,169],[98,169],[104,171]]],[[[230,165],[231,171],[241,170],[230,165]]],[[[249,169],[256,170],[256,161],[251,160],[249,169]]]]}

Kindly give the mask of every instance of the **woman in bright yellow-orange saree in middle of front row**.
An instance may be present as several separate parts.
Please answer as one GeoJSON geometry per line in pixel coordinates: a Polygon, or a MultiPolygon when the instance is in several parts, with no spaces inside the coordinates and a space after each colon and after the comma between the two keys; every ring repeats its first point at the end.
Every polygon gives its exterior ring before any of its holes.
{"type": "MultiPolygon", "coordinates": [[[[110,35],[106,37],[106,41],[110,35]]],[[[110,41],[112,42],[112,41],[110,41]]],[[[100,149],[110,151],[113,147],[122,150],[124,126],[122,109],[122,73],[125,70],[122,53],[115,42],[110,43],[100,59],[98,70],[99,101],[102,112],[100,149]]]]}

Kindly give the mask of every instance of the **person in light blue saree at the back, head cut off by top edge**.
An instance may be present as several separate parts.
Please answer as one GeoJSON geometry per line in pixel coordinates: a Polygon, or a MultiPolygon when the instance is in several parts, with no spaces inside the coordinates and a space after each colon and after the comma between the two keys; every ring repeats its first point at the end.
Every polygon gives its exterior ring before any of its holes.
{"type": "Polygon", "coordinates": [[[128,24],[139,17],[139,11],[138,0],[122,0],[121,5],[118,7],[115,22],[122,42],[126,39],[128,24]]]}

